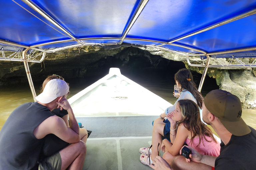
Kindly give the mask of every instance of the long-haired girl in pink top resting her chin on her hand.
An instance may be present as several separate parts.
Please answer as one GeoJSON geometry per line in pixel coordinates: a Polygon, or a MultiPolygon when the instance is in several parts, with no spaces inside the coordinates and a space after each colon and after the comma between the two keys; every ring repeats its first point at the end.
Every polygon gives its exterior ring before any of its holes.
{"type": "Polygon", "coordinates": [[[163,158],[169,164],[179,155],[185,142],[201,154],[219,156],[220,143],[216,141],[211,129],[201,121],[195,102],[189,99],[179,100],[175,110],[167,114],[167,119],[171,123],[171,142],[164,139],[161,150],[165,152],[163,158]]]}

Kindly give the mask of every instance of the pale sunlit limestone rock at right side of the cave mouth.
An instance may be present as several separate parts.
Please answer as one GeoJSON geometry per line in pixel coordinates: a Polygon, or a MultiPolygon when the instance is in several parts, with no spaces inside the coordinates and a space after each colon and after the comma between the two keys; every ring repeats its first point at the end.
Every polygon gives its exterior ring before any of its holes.
{"type": "MultiPolygon", "coordinates": [[[[143,49],[143,48],[142,48],[143,49]]],[[[186,68],[194,70],[203,74],[204,67],[194,67],[187,63],[187,57],[168,51],[163,51],[154,48],[147,48],[147,50],[154,54],[160,55],[164,58],[183,61],[186,68]]],[[[220,59],[222,63],[227,64],[230,62],[229,58],[220,59]]],[[[242,60],[242,59],[241,59],[242,60]]],[[[244,58],[243,61],[251,63],[249,58],[244,58]]],[[[197,62],[195,62],[197,63],[197,62]]],[[[213,61],[210,62],[213,64],[213,61]]],[[[234,68],[234,67],[209,67],[207,75],[216,79],[216,83],[220,89],[231,92],[239,97],[243,108],[256,108],[256,69],[255,68],[234,68]]]]}

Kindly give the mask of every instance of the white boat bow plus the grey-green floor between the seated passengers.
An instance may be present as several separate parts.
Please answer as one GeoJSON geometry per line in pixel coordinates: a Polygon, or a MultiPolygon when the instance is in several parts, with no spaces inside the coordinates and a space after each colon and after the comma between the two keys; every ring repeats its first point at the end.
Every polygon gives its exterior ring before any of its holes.
{"type": "Polygon", "coordinates": [[[111,68],[68,99],[77,122],[91,130],[83,170],[144,170],[139,149],[151,145],[152,121],[171,104],[111,68]]]}

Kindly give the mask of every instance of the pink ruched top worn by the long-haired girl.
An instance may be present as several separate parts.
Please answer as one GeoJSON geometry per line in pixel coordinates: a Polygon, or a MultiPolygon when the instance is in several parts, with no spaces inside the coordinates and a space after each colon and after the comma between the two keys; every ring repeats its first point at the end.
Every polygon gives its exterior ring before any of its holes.
{"type": "MultiPolygon", "coordinates": [[[[209,136],[205,136],[205,137],[209,141],[212,140],[212,138],[209,136]]],[[[188,138],[186,139],[185,142],[188,144],[188,146],[193,147],[194,149],[196,149],[196,151],[198,151],[202,155],[211,155],[211,156],[219,156],[220,155],[220,143],[218,141],[217,141],[217,143],[215,143],[214,141],[208,142],[205,140],[204,137],[202,137],[201,142],[198,145],[199,137],[197,137],[197,138],[193,139],[193,143],[191,143],[190,139],[188,139],[188,138]]]]}

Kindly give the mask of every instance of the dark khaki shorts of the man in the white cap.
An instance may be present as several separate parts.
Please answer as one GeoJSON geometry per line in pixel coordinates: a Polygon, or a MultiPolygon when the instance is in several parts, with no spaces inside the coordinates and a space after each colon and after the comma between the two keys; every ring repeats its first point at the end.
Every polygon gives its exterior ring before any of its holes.
{"type": "Polygon", "coordinates": [[[39,162],[38,170],[60,170],[61,168],[61,156],[59,152],[56,152],[52,156],[44,158],[39,162]]]}

